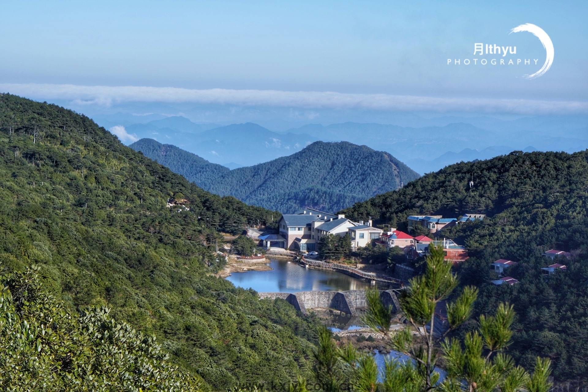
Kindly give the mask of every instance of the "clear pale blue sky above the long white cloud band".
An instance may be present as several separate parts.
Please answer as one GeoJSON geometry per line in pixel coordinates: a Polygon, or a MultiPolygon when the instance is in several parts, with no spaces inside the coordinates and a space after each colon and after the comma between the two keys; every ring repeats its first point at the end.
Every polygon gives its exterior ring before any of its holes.
{"type": "MultiPolygon", "coordinates": [[[[7,1],[2,14],[3,86],[557,100],[579,102],[580,112],[588,100],[588,4],[580,1],[7,1]],[[540,68],[544,49],[530,33],[508,34],[527,22],[542,27],[555,47],[552,68],[531,81],[520,76],[540,68]],[[539,65],[446,65],[447,58],[472,58],[475,42],[516,45],[516,57],[538,58],[539,65]]],[[[22,91],[37,99],[76,94],[48,89],[22,91]]],[[[115,99],[119,93],[109,92],[115,99]]]]}

